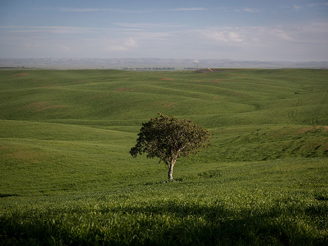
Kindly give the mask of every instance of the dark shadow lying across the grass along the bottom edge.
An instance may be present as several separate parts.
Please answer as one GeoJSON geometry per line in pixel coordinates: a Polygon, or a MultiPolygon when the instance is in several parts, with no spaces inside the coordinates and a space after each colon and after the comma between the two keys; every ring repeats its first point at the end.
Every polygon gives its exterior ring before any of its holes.
{"type": "MultiPolygon", "coordinates": [[[[60,208],[46,213],[14,213],[1,218],[4,245],[326,245],[306,225],[306,209],[233,211],[222,204],[199,206],[183,201],[98,209],[60,208]],[[294,215],[293,215],[294,214],[294,215]],[[301,222],[301,223],[300,223],[301,222]],[[304,223],[302,223],[304,222],[304,223]],[[303,225],[303,226],[302,226],[303,225]],[[306,225],[306,227],[304,226],[306,225]]],[[[328,212],[327,206],[321,211],[328,212]]],[[[316,224],[320,215],[310,218],[316,224]]],[[[321,234],[322,235],[322,234],[321,234]]]]}

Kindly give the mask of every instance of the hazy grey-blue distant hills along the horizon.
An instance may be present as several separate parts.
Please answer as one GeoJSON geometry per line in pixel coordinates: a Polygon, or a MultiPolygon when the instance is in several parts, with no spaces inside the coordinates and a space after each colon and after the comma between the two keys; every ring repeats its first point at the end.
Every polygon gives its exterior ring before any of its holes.
{"type": "Polygon", "coordinates": [[[233,59],[163,59],[163,58],[0,58],[0,67],[48,69],[123,69],[172,67],[200,68],[315,68],[328,69],[328,61],[261,61],[233,59]]]}

